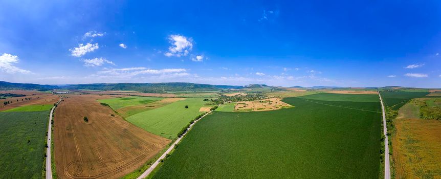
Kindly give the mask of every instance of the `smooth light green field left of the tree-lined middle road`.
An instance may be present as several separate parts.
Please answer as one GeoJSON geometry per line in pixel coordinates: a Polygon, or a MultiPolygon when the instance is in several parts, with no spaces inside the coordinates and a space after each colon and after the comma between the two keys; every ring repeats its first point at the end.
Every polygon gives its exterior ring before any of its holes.
{"type": "Polygon", "coordinates": [[[184,126],[202,113],[199,109],[207,103],[203,100],[186,98],[160,108],[143,111],[126,120],[156,135],[174,139],[184,126]],[[188,105],[188,108],[185,108],[185,105],[188,105]]]}

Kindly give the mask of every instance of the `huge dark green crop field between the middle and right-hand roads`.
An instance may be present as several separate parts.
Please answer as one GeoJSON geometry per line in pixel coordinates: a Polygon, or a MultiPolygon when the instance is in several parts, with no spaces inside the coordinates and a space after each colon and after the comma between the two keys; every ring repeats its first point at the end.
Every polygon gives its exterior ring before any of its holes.
{"type": "MultiPolygon", "coordinates": [[[[346,99],[354,98],[350,96],[346,99]]],[[[355,100],[366,101],[364,97],[355,100]]],[[[251,113],[214,111],[190,130],[152,177],[379,177],[381,113],[301,98],[283,101],[296,107],[251,113]]]]}

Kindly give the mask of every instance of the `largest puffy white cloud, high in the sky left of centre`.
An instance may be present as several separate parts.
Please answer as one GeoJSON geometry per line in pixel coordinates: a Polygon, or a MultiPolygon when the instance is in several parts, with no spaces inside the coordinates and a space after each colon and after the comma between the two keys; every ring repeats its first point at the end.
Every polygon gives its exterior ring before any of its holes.
{"type": "Polygon", "coordinates": [[[170,35],[168,36],[170,42],[170,47],[168,47],[168,52],[164,53],[165,56],[187,56],[188,53],[193,49],[193,40],[191,38],[182,35],[170,35]]]}

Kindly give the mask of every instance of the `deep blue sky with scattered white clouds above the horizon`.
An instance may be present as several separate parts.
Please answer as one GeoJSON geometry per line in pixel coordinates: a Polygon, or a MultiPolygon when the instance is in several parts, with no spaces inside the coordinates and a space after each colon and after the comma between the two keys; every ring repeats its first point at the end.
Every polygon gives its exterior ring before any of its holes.
{"type": "Polygon", "coordinates": [[[441,87],[439,1],[0,1],[0,80],[441,87]]]}

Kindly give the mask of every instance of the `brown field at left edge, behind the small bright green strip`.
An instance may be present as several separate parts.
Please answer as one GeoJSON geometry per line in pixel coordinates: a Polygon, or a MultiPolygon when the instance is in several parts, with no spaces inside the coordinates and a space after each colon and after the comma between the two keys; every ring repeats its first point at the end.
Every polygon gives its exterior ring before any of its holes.
{"type": "Polygon", "coordinates": [[[40,94],[40,95],[31,95],[31,96],[23,96],[23,97],[13,97],[7,99],[0,100],[0,111],[8,110],[15,107],[27,106],[27,105],[36,105],[36,104],[54,104],[59,99],[58,95],[53,94],[40,94]],[[26,100],[28,98],[28,100],[26,100]],[[32,98],[32,99],[30,99],[32,98]],[[3,102],[11,101],[12,103],[4,105],[3,102]]]}

